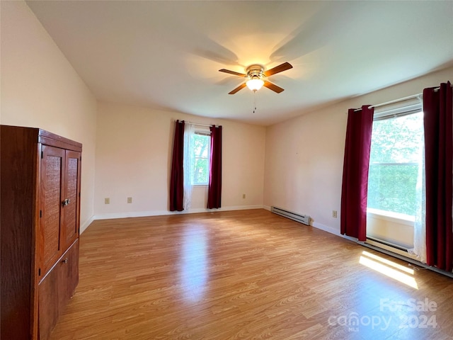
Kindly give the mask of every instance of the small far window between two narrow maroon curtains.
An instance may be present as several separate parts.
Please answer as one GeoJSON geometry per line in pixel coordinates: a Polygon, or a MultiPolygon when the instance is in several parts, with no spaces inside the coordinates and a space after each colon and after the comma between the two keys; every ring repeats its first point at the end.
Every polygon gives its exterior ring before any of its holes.
{"type": "Polygon", "coordinates": [[[210,132],[195,131],[193,135],[193,184],[207,185],[210,179],[210,132]]]}

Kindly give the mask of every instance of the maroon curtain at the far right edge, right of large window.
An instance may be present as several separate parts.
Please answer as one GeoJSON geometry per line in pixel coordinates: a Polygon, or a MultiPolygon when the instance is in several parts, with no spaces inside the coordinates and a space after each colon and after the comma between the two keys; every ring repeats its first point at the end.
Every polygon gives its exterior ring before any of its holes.
{"type": "Polygon", "coordinates": [[[452,86],[423,90],[426,175],[426,261],[452,271],[452,86]]]}

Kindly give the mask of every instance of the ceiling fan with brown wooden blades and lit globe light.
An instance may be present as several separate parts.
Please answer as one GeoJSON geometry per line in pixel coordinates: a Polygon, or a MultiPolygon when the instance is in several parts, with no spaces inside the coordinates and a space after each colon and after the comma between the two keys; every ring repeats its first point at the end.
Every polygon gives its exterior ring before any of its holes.
{"type": "Polygon", "coordinates": [[[263,66],[253,64],[247,67],[246,69],[247,74],[234,72],[229,69],[219,69],[219,72],[234,74],[235,76],[248,78],[248,80],[245,83],[242,83],[241,85],[236,87],[236,89],[229,92],[228,94],[236,94],[237,91],[243,89],[246,86],[253,92],[258,91],[259,89],[261,89],[262,86],[265,86],[268,89],[277,92],[277,94],[280,94],[280,92],[284,91],[284,89],[282,89],[280,86],[271,83],[270,81],[264,80],[263,78],[270,77],[273,74],[286,71],[287,69],[292,69],[292,64],[289,64],[289,62],[284,62],[283,64],[273,67],[272,69],[268,69],[267,71],[264,70],[263,66]]]}

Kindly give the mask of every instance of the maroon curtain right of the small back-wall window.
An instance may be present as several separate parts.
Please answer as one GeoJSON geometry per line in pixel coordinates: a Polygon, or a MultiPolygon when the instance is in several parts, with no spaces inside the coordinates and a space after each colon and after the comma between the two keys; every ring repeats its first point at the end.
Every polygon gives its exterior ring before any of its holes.
{"type": "Polygon", "coordinates": [[[222,126],[211,130],[210,184],[207,189],[207,208],[220,208],[222,197],[222,126]]]}

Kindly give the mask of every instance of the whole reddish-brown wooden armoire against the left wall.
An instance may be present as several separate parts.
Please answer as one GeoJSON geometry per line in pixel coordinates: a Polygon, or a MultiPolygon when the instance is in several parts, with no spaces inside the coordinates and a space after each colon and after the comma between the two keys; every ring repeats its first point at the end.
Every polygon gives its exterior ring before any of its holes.
{"type": "Polygon", "coordinates": [[[45,340],[79,283],[82,145],[0,128],[0,337],[45,340]]]}

